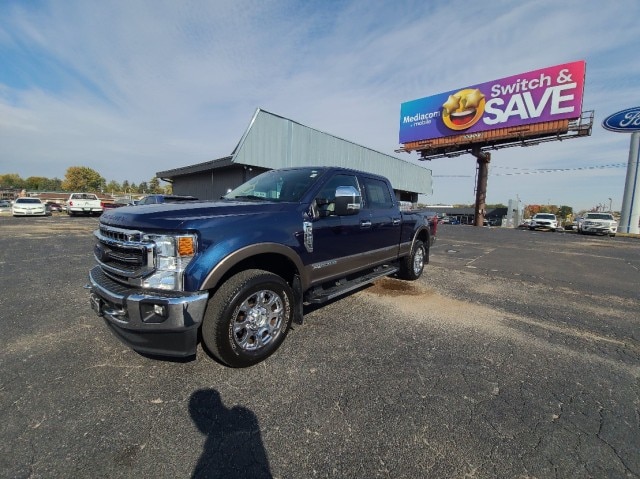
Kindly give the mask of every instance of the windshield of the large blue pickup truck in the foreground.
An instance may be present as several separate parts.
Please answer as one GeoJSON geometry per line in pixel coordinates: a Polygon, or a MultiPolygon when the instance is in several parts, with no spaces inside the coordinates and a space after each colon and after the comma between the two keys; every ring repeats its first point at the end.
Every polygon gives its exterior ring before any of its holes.
{"type": "Polygon", "coordinates": [[[223,196],[226,200],[293,201],[304,193],[324,173],[321,168],[272,170],[262,173],[223,196]]]}

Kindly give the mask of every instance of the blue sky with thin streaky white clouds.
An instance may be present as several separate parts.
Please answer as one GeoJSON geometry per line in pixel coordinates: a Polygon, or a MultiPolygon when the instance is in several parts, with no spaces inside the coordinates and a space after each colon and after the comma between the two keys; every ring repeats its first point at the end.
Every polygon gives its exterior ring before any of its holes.
{"type": "Polygon", "coordinates": [[[620,210],[640,104],[638,0],[0,0],[0,174],[107,182],[229,155],[256,108],[431,169],[472,204],[471,155],[400,147],[400,105],[586,61],[589,137],[492,153],[487,203],[620,210]],[[553,171],[550,171],[553,170],[553,171]]]}

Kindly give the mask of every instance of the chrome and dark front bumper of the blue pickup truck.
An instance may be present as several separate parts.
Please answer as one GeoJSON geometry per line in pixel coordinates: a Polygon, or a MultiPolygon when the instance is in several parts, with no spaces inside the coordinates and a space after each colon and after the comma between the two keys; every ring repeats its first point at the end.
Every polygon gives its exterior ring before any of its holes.
{"type": "Polygon", "coordinates": [[[89,273],[92,309],[132,349],[146,354],[188,357],[196,353],[207,292],[157,292],[130,288],[99,266],[89,273]]]}

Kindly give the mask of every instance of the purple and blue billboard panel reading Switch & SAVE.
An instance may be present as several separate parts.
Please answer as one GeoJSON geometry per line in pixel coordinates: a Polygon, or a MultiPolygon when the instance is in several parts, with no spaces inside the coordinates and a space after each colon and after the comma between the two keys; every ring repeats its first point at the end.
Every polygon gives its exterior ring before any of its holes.
{"type": "Polygon", "coordinates": [[[403,103],[400,143],[580,117],[586,64],[565,63],[403,103]]]}

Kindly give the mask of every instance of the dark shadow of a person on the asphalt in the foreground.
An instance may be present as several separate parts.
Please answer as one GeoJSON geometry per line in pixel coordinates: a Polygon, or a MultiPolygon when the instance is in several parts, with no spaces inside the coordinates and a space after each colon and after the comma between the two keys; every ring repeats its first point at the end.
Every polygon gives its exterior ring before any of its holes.
{"type": "Polygon", "coordinates": [[[269,459],[256,415],[242,406],[227,408],[215,389],[200,389],[189,398],[189,413],[206,436],[194,479],[269,478],[269,459]]]}

